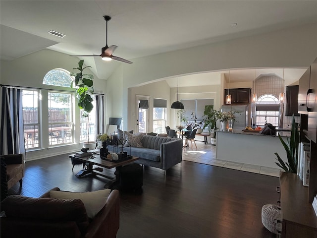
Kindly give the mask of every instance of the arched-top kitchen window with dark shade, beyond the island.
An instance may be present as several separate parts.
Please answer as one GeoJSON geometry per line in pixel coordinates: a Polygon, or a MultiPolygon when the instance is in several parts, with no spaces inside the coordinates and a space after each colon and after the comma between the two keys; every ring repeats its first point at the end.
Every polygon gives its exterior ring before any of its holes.
{"type": "Polygon", "coordinates": [[[264,126],[266,122],[278,126],[280,104],[277,97],[264,94],[258,98],[256,106],[256,124],[264,126]]]}

